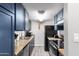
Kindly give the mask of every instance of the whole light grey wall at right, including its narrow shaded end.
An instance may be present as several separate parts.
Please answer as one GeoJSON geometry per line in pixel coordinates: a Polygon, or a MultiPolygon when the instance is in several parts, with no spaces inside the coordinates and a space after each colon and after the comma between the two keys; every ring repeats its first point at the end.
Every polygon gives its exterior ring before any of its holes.
{"type": "MultiPolygon", "coordinates": [[[[79,42],[74,42],[74,33],[79,34],[79,3],[64,6],[65,13],[65,55],[79,56],[79,42]]],[[[79,38],[78,38],[79,39],[79,38]]]]}

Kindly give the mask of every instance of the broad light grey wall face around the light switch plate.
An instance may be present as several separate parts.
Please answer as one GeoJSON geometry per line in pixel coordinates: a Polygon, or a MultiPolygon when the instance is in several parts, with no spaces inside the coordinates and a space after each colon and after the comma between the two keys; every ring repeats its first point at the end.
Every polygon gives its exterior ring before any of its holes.
{"type": "Polygon", "coordinates": [[[79,3],[68,4],[68,55],[79,56],[79,42],[74,42],[74,33],[79,33],[79,3]]]}

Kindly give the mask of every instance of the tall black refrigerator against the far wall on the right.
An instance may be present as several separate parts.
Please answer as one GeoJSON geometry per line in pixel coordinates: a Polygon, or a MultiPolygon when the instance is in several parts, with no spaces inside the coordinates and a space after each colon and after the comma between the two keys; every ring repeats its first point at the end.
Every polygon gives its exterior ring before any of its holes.
{"type": "Polygon", "coordinates": [[[45,44],[44,44],[44,50],[49,51],[48,48],[48,37],[54,37],[56,31],[54,30],[53,25],[46,25],[45,26],[45,44]]]}

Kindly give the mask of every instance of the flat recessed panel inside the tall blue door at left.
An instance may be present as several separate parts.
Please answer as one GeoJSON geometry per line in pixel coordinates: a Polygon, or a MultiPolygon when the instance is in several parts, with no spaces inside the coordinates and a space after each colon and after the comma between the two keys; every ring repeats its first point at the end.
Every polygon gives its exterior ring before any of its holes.
{"type": "Polygon", "coordinates": [[[0,11],[0,55],[11,55],[12,17],[0,11]]]}

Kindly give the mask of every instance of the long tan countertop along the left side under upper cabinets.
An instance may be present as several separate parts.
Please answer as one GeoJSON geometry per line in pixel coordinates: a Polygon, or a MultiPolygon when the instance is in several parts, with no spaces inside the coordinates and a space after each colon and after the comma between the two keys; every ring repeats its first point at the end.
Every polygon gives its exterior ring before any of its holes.
{"type": "Polygon", "coordinates": [[[15,55],[18,55],[20,51],[32,40],[33,36],[25,37],[24,39],[20,39],[15,43],[15,55]]]}

